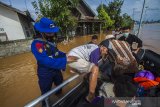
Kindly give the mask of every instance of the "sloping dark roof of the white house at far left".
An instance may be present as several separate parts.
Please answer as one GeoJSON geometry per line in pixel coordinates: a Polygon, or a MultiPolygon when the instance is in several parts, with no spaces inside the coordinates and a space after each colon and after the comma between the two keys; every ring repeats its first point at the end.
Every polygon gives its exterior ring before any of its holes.
{"type": "Polygon", "coordinates": [[[8,5],[8,4],[5,4],[5,3],[1,2],[1,1],[0,1],[0,6],[4,6],[4,7],[8,8],[11,11],[14,11],[14,12],[20,14],[20,15],[25,16],[30,21],[34,21],[26,11],[21,11],[19,9],[16,9],[16,8],[14,8],[14,7],[12,7],[12,6],[8,5]]]}

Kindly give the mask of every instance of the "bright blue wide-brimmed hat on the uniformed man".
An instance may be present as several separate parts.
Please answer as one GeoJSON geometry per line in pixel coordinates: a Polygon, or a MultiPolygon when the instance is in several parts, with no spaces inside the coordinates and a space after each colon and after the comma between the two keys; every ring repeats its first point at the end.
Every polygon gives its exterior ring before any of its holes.
{"type": "Polygon", "coordinates": [[[43,17],[39,22],[36,22],[34,27],[41,33],[54,33],[59,31],[59,28],[55,25],[55,22],[46,17],[43,17]]]}

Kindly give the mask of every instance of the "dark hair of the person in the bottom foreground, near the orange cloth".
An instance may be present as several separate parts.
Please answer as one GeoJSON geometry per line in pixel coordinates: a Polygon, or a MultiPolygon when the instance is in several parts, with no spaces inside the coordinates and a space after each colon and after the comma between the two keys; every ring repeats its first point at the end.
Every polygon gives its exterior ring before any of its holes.
{"type": "Polygon", "coordinates": [[[137,88],[131,77],[127,75],[119,76],[113,87],[116,97],[134,97],[136,96],[137,88]]]}

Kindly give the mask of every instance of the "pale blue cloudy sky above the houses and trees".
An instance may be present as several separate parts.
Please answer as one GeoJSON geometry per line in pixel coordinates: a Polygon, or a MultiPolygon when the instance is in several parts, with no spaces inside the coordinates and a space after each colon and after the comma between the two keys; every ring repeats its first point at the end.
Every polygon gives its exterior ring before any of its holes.
{"type": "MultiPolygon", "coordinates": [[[[11,4],[13,7],[18,8],[20,10],[26,10],[26,8],[34,15],[34,9],[31,5],[31,2],[34,0],[0,0],[6,4],[11,4]]],[[[93,11],[97,14],[96,8],[99,4],[104,3],[108,5],[110,1],[113,0],[85,0],[88,5],[93,9],[93,11]]],[[[122,14],[127,13],[135,20],[140,19],[140,14],[143,6],[144,0],[124,0],[124,4],[122,6],[122,14]],[[133,14],[134,13],[134,14],[133,14]]],[[[145,10],[143,15],[143,20],[159,20],[160,19],[160,0],[145,0],[145,10]]]]}

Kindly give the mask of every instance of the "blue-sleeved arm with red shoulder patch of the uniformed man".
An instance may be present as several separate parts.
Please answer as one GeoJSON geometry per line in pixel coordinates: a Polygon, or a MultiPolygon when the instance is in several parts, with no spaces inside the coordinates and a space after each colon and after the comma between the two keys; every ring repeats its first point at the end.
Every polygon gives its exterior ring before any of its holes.
{"type": "Polygon", "coordinates": [[[41,42],[33,42],[31,49],[39,64],[53,69],[65,69],[67,63],[66,55],[61,58],[49,57],[41,42]]]}

